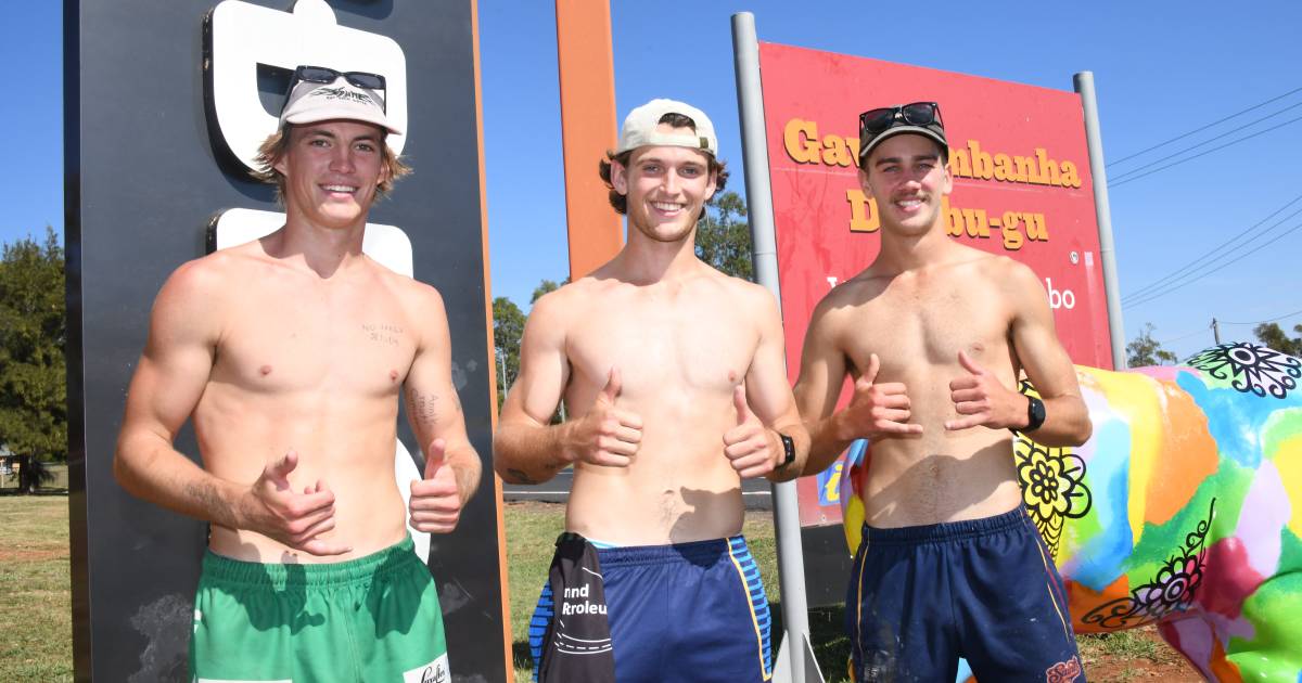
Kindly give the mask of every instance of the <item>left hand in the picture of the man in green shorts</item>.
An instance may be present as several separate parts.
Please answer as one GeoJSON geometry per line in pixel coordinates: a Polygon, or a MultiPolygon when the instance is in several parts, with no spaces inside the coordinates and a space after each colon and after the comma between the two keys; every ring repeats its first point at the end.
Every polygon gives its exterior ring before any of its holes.
{"type": "Polygon", "coordinates": [[[322,539],[335,528],[335,493],[322,480],[296,493],[289,475],[297,467],[298,451],[293,449],[263,467],[242,498],[240,527],[314,556],[352,552],[348,545],[322,539]]]}

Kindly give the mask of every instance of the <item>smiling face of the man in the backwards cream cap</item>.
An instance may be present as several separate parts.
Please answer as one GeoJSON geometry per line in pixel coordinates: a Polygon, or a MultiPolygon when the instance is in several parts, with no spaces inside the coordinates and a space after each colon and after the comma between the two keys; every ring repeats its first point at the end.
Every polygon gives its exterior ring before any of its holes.
{"type": "MultiPolygon", "coordinates": [[[[660,124],[663,133],[691,134],[690,127],[660,124]]],[[[633,230],[656,242],[691,235],[716,178],[710,155],[687,147],[639,147],[628,165],[612,163],[611,185],[628,198],[629,238],[633,230]]]]}

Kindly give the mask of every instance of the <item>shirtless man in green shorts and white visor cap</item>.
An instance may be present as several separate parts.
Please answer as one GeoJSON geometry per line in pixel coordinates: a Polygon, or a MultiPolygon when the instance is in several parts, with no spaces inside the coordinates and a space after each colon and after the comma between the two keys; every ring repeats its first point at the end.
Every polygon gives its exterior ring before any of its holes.
{"type": "Polygon", "coordinates": [[[362,254],[371,203],[406,172],[383,86],[299,66],[260,157],[285,225],[181,265],[154,303],[113,470],[211,522],[191,678],[449,680],[393,476],[400,392],[427,462],[417,529],[450,532],[480,466],[443,299],[362,254]],[[202,468],[172,445],[186,418],[202,468]]]}

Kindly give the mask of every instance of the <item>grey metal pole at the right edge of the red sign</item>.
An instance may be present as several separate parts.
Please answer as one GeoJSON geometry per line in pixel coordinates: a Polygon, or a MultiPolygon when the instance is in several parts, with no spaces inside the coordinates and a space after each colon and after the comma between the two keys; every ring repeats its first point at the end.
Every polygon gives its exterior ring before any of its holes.
{"type": "Polygon", "coordinates": [[[1094,178],[1094,209],[1099,215],[1099,260],[1103,263],[1103,291],[1108,298],[1108,333],[1112,340],[1112,367],[1126,369],[1126,327],[1121,320],[1121,286],[1117,284],[1117,256],[1112,243],[1112,208],[1108,206],[1108,172],[1103,161],[1103,135],[1099,133],[1099,103],[1094,96],[1094,72],[1073,77],[1085,105],[1085,142],[1090,147],[1090,176],[1094,178]]]}

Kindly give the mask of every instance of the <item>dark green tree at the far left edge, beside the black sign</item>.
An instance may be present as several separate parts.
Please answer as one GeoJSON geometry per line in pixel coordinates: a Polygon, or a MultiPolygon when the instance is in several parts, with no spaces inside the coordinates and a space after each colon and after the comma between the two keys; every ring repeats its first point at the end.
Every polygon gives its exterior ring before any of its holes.
{"type": "Polygon", "coordinates": [[[18,455],[18,485],[35,490],[42,463],[68,459],[64,250],[55,230],[5,245],[0,256],[0,444],[18,455]]]}

